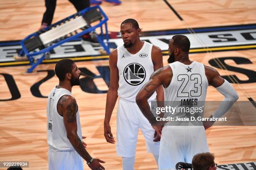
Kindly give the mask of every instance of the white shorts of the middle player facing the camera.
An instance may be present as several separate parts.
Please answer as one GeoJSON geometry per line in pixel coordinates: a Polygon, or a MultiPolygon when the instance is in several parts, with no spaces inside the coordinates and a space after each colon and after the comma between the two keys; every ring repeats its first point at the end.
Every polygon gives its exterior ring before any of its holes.
{"type": "Polygon", "coordinates": [[[139,128],[146,140],[147,153],[159,155],[160,143],[153,141],[155,130],[144,117],[136,102],[120,98],[117,112],[117,144],[115,146],[118,155],[128,158],[135,156],[139,128]]]}

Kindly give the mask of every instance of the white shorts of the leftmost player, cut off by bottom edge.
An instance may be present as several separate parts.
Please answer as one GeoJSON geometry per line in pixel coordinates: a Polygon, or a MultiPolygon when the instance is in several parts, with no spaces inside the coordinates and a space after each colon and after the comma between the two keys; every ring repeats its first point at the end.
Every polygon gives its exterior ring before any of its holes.
{"type": "Polygon", "coordinates": [[[48,168],[49,170],[83,170],[82,157],[77,151],[57,151],[50,148],[48,150],[48,168]]]}

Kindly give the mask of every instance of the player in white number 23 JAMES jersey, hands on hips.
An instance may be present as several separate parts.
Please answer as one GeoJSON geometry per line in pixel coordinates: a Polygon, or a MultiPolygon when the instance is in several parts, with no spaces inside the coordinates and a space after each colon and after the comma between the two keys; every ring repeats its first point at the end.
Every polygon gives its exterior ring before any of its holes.
{"type": "MultiPolygon", "coordinates": [[[[159,150],[159,170],[175,168],[178,162],[192,163],[197,153],[209,152],[205,129],[213,124],[202,126],[178,126],[167,122],[164,127],[157,125],[156,118],[148,105],[148,98],[161,85],[164,86],[165,101],[205,101],[208,85],[215,87],[224,100],[212,114],[221,117],[238,99],[238,94],[230,83],[220,74],[202,63],[189,60],[189,39],[184,35],[175,35],[169,42],[169,65],[153,73],[136,97],[143,115],[161,135],[159,150]],[[226,101],[230,101],[227,102],[226,101]]],[[[179,112],[177,113],[179,114],[179,112]]],[[[181,113],[180,113],[181,114],[181,113]]],[[[211,117],[212,117],[211,116],[211,117]]]]}

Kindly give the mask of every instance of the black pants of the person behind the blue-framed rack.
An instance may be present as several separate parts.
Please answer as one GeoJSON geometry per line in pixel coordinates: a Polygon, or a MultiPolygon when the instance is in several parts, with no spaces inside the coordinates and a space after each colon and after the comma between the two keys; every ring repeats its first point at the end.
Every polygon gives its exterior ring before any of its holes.
{"type": "MultiPolygon", "coordinates": [[[[69,0],[77,11],[83,10],[84,8],[90,7],[90,0],[69,0]]],[[[54,11],[56,7],[56,0],[45,0],[46,11],[44,12],[42,23],[46,23],[47,25],[51,25],[53,20],[54,11]]],[[[67,17],[67,16],[65,16],[67,17]]]]}

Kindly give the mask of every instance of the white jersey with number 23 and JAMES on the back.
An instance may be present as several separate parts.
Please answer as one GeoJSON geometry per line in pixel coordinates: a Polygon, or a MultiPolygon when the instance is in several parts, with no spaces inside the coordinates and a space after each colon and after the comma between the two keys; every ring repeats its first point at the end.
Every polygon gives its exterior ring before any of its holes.
{"type": "Polygon", "coordinates": [[[200,121],[180,121],[177,118],[191,119],[191,117],[203,116],[208,87],[204,65],[196,61],[190,65],[176,61],[169,66],[172,68],[173,76],[169,86],[164,88],[165,107],[173,107],[177,110],[165,114],[174,118],[165,125],[202,125],[200,121]]]}

